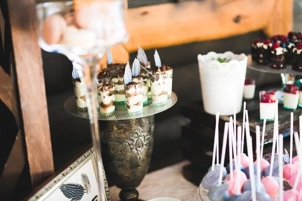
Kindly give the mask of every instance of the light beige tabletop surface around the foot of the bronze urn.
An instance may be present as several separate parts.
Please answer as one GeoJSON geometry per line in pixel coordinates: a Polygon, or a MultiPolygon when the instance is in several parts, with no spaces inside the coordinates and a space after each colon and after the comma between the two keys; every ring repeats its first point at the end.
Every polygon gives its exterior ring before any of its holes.
{"type": "MultiPolygon", "coordinates": [[[[147,174],[137,187],[139,198],[149,200],[156,197],[173,197],[181,201],[199,201],[197,186],[182,175],[183,167],[188,164],[188,161],[183,161],[147,174]]],[[[120,200],[119,188],[113,186],[110,192],[113,201],[120,200]]]]}

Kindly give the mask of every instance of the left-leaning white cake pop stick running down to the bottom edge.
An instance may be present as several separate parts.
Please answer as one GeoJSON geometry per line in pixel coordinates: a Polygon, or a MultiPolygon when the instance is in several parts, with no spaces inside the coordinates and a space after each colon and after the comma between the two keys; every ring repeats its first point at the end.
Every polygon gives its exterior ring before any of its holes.
{"type": "Polygon", "coordinates": [[[248,156],[249,156],[249,170],[250,170],[250,179],[251,179],[251,191],[252,191],[252,200],[256,201],[256,186],[255,186],[255,171],[253,163],[253,149],[252,149],[252,139],[250,136],[250,130],[248,129],[249,125],[246,122],[246,134],[247,134],[247,146],[248,146],[248,156]]]}

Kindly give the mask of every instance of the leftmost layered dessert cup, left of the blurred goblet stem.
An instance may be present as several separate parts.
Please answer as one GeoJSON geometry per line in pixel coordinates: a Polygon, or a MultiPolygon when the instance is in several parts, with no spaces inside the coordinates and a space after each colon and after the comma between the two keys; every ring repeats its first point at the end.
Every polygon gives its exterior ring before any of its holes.
{"type": "Polygon", "coordinates": [[[86,104],[86,86],[83,77],[78,77],[76,79],[72,79],[74,95],[77,98],[75,102],[77,103],[77,107],[81,111],[87,110],[86,104]]]}

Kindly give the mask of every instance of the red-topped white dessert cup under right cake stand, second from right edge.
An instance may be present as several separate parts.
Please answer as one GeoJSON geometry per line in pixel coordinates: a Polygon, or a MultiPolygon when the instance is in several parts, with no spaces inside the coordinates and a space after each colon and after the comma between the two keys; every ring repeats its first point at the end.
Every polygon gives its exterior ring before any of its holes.
{"type": "Polygon", "coordinates": [[[286,84],[283,89],[283,108],[295,110],[298,106],[298,88],[292,84],[286,84]]]}

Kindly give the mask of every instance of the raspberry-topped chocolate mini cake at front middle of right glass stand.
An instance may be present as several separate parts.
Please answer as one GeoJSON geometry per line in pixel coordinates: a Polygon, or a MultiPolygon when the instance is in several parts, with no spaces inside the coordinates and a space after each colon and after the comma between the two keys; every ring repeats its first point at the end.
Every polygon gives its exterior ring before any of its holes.
{"type": "Polygon", "coordinates": [[[269,67],[274,69],[286,68],[284,49],[279,44],[274,43],[271,48],[271,59],[269,61],[269,67]]]}

